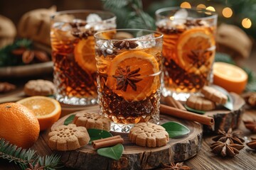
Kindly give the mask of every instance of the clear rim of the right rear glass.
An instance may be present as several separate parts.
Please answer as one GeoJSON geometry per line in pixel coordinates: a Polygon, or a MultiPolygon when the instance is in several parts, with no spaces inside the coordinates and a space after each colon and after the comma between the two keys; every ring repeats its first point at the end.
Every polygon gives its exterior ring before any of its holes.
{"type": "MultiPolygon", "coordinates": [[[[159,16],[160,18],[166,18],[166,16],[161,15],[160,13],[166,12],[166,11],[174,11],[174,10],[178,10],[178,9],[181,9],[181,7],[180,6],[172,6],[172,7],[159,8],[158,10],[155,11],[155,16],[159,16]]],[[[207,10],[206,8],[192,7],[192,8],[183,8],[183,9],[186,9],[187,11],[201,11],[203,13],[210,13],[209,16],[196,17],[195,19],[206,20],[206,19],[218,18],[218,13],[216,13],[215,11],[207,10]]]]}

